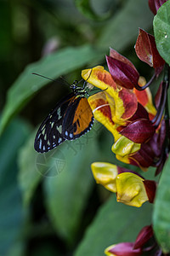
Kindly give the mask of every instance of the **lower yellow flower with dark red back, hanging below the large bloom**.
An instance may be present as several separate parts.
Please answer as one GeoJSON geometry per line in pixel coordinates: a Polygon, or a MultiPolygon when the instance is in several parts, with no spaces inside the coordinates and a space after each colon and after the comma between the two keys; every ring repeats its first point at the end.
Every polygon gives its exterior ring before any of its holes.
{"type": "Polygon", "coordinates": [[[96,183],[116,193],[116,200],[132,207],[141,207],[145,201],[153,202],[155,181],[144,180],[137,172],[105,162],[91,166],[96,183]]]}

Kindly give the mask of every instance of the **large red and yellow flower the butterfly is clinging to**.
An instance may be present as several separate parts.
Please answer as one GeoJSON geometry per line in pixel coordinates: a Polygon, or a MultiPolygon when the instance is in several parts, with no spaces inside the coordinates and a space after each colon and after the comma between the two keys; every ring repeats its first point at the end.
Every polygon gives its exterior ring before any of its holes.
{"type": "MultiPolygon", "coordinates": [[[[143,170],[153,165],[157,154],[151,154],[150,160],[145,160],[144,150],[147,148],[153,151],[150,139],[153,142],[160,131],[156,131],[151,122],[156,115],[156,108],[149,88],[142,91],[123,88],[101,66],[82,70],[82,78],[103,90],[89,96],[88,102],[94,118],[113,134],[115,143],[111,150],[116,158],[127,164],[140,166],[143,170]]],[[[139,83],[141,80],[144,81],[139,79],[139,83]]]]}

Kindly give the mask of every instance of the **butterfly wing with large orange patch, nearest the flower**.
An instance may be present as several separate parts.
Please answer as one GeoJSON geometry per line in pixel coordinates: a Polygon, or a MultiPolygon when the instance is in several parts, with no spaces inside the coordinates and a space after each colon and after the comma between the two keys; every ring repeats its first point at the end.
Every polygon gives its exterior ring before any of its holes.
{"type": "Polygon", "coordinates": [[[90,131],[94,124],[94,114],[84,96],[75,96],[65,112],[63,119],[63,137],[74,140],[90,131]]]}

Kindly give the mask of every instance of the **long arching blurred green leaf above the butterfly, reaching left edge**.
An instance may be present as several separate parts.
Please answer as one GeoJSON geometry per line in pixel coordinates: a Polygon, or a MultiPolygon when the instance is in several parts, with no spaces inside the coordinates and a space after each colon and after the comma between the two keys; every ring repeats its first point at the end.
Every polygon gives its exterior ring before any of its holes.
{"type": "Polygon", "coordinates": [[[8,121],[26,105],[32,96],[44,85],[48,84],[47,79],[37,78],[31,73],[42,73],[51,79],[69,73],[80,68],[90,61],[99,61],[103,58],[103,52],[94,49],[89,45],[77,48],[60,49],[54,54],[48,55],[26,67],[25,71],[14,82],[8,90],[7,102],[3,109],[0,134],[3,132],[8,121]]]}

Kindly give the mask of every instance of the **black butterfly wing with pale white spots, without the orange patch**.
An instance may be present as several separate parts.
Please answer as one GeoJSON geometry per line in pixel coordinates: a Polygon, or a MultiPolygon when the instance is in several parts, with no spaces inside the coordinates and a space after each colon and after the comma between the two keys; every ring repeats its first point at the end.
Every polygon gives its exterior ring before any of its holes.
{"type": "Polygon", "coordinates": [[[48,152],[65,141],[62,125],[68,106],[74,101],[75,94],[65,96],[40,125],[35,138],[34,148],[39,153],[48,152]]]}

